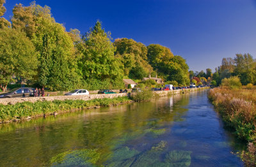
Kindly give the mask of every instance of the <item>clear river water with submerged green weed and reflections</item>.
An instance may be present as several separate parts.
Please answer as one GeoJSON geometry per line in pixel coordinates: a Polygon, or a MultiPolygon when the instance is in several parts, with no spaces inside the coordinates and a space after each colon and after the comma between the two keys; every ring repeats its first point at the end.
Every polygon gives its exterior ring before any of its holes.
{"type": "Polygon", "coordinates": [[[0,125],[0,166],[243,166],[207,91],[0,125]]]}

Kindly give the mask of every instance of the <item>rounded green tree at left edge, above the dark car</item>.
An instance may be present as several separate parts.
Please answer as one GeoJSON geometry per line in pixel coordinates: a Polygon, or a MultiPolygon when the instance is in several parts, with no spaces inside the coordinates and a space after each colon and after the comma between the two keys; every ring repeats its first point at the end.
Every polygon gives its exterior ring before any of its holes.
{"type": "Polygon", "coordinates": [[[29,80],[36,75],[37,57],[25,33],[12,28],[0,29],[0,84],[5,91],[14,78],[29,80]]]}

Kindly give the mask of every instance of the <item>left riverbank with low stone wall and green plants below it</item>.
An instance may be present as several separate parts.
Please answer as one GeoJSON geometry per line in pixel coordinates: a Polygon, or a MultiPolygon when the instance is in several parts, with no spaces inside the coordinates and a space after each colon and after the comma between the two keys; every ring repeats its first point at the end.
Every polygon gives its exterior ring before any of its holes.
{"type": "MultiPolygon", "coordinates": [[[[182,94],[191,91],[200,91],[206,87],[197,89],[156,91],[155,97],[182,94]]],[[[134,93],[132,93],[134,94],[134,93]]],[[[129,96],[132,96],[129,95],[129,96]]],[[[131,103],[132,100],[126,93],[121,94],[90,94],[89,96],[50,96],[31,98],[5,98],[0,99],[0,124],[19,122],[35,117],[56,115],[58,113],[74,112],[100,106],[120,105],[131,103]]]]}

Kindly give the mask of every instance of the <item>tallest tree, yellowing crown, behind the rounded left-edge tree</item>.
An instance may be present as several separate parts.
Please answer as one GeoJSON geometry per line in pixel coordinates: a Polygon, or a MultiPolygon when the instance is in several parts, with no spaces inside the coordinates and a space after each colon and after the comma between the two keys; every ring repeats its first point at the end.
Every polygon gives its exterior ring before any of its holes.
{"type": "Polygon", "coordinates": [[[48,6],[31,3],[13,8],[12,26],[24,31],[38,51],[37,82],[51,90],[67,90],[79,82],[74,43],[48,6]]]}

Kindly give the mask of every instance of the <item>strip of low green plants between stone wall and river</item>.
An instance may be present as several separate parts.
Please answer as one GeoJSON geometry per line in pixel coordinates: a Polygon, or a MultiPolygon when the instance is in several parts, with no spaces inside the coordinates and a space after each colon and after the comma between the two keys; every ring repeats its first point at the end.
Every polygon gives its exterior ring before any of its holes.
{"type": "Polygon", "coordinates": [[[0,122],[12,122],[29,119],[29,117],[42,117],[63,112],[72,112],[73,110],[93,108],[99,106],[118,105],[120,103],[128,103],[131,99],[125,97],[113,99],[93,99],[89,101],[83,100],[54,100],[54,101],[37,101],[35,103],[23,102],[15,105],[0,104],[0,122]]]}

